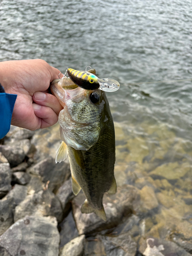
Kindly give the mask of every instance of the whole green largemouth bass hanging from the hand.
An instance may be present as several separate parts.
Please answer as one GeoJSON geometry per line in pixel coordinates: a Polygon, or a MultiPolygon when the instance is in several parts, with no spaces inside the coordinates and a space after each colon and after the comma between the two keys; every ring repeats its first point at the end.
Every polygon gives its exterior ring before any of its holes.
{"type": "Polygon", "coordinates": [[[94,212],[106,221],[103,195],[117,190],[115,130],[106,94],[83,89],[67,77],[55,79],[50,88],[63,106],[58,117],[62,142],[56,162],[69,156],[73,193],[82,189],[86,197],[81,212],[94,212]]]}

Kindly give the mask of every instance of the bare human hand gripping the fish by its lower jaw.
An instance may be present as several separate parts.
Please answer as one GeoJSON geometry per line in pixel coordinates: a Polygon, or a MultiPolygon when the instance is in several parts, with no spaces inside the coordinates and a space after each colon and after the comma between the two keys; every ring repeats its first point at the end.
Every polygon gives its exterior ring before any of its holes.
{"type": "Polygon", "coordinates": [[[11,124],[37,130],[57,122],[62,106],[48,88],[59,73],[42,59],[0,62],[0,83],[6,93],[17,94],[11,124]]]}

